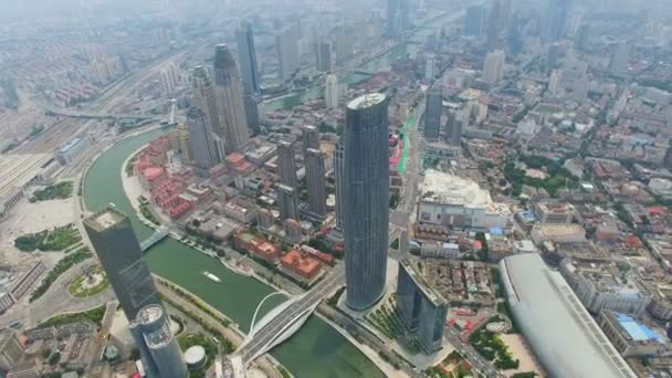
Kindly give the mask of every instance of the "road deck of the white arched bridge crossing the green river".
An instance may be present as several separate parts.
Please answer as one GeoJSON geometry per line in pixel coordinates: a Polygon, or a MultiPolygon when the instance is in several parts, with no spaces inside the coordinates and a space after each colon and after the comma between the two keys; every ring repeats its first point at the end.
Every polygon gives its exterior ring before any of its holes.
{"type": "Polygon", "coordinates": [[[241,348],[238,354],[243,357],[245,364],[251,363],[254,356],[263,354],[264,350],[280,336],[287,324],[296,319],[296,316],[305,313],[316,302],[322,301],[326,295],[342,286],[345,283],[345,270],[343,265],[338,265],[332,270],[332,273],[322,282],[317,283],[305,296],[292,304],[287,309],[277,315],[265,326],[256,332],[252,342],[241,348]]]}

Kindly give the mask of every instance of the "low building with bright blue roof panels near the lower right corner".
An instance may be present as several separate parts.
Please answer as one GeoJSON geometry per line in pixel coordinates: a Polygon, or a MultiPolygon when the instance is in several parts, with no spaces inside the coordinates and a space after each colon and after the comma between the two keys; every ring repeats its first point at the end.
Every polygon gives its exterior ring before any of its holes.
{"type": "Polygon", "coordinates": [[[598,324],[623,357],[658,357],[672,354],[664,330],[655,330],[634,317],[602,311],[598,324]]]}

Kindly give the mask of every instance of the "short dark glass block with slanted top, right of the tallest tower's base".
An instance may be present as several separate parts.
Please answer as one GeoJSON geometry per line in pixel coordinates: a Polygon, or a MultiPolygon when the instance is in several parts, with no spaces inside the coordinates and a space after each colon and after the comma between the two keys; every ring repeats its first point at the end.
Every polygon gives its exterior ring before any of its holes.
{"type": "Polygon", "coordinates": [[[397,276],[397,303],[401,321],[418,337],[426,353],[441,348],[443,328],[448,315],[448,302],[428,286],[414,266],[399,262],[397,276]]]}

